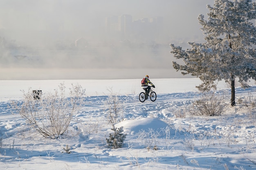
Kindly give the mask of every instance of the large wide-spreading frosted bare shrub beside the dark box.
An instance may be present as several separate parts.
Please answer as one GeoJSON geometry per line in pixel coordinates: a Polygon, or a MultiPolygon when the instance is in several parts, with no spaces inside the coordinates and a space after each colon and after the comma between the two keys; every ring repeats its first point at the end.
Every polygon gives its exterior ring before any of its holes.
{"type": "Polygon", "coordinates": [[[42,95],[34,99],[33,93],[24,93],[22,102],[11,102],[11,107],[44,137],[58,138],[70,126],[73,118],[83,103],[85,90],[80,86],[70,88],[70,97],[65,97],[64,84],[59,85],[54,94],[42,95]]]}

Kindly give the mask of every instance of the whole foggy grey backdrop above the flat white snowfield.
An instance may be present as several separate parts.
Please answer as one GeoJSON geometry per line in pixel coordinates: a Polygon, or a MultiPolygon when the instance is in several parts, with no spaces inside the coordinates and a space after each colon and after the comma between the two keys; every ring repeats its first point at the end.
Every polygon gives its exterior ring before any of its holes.
{"type": "Polygon", "coordinates": [[[170,43],[202,42],[213,0],[0,0],[0,79],[184,77],[170,43]]]}

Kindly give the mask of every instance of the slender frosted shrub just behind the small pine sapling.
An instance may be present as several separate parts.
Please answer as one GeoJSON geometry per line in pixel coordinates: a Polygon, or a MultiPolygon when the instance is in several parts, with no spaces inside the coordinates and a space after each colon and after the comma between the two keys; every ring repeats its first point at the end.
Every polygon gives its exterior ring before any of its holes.
{"type": "Polygon", "coordinates": [[[119,97],[111,93],[103,102],[104,113],[108,124],[121,122],[124,118],[124,102],[119,97]]]}

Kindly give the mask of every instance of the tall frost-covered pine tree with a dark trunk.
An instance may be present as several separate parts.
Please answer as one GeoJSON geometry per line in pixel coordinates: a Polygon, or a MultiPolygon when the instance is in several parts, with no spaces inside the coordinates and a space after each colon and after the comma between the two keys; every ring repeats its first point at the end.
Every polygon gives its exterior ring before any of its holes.
{"type": "Polygon", "coordinates": [[[216,81],[231,83],[231,106],[235,106],[235,79],[246,88],[256,79],[256,2],[252,0],[214,0],[207,5],[208,20],[199,15],[204,43],[189,42],[191,49],[182,50],[171,44],[171,53],[184,65],[173,62],[176,71],[202,80],[200,91],[216,89],[216,81]]]}

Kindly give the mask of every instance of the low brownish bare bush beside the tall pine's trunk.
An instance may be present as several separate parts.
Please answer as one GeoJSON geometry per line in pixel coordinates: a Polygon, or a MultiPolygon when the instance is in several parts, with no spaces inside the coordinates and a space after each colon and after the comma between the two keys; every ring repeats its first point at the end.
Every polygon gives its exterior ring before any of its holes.
{"type": "Polygon", "coordinates": [[[193,104],[191,114],[201,116],[219,116],[228,104],[225,91],[202,92],[199,99],[193,104]]]}

